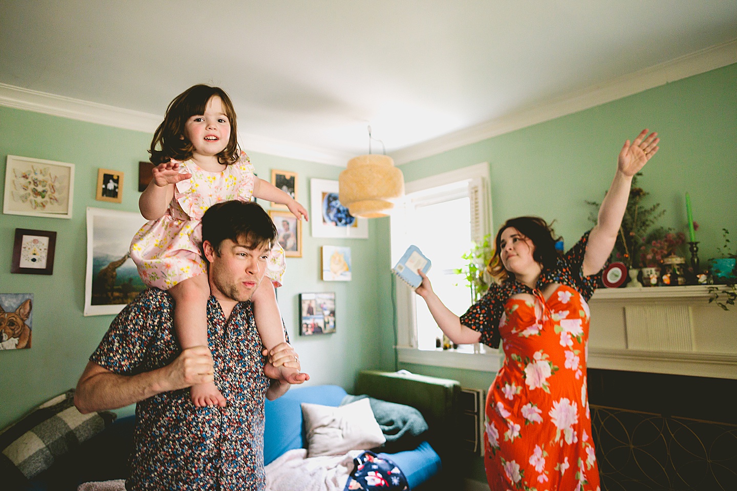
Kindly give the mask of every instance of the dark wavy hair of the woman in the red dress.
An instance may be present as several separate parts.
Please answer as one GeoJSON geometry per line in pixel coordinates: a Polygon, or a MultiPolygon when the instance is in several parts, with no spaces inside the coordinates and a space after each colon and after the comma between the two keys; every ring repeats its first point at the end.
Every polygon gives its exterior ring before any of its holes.
{"type": "MultiPolygon", "coordinates": [[[[551,223],[551,225],[553,224],[551,223]]],[[[539,216],[518,216],[507,220],[497,232],[496,239],[494,239],[494,255],[489,261],[489,266],[486,266],[489,275],[492,275],[497,283],[503,283],[512,275],[506,270],[500,257],[502,232],[509,227],[516,228],[523,236],[532,241],[535,247],[532,258],[535,261],[542,264],[543,267],[555,266],[560,257],[560,253],[555,249],[555,243],[559,238],[556,238],[551,225],[548,225],[548,222],[545,222],[539,216]]]]}

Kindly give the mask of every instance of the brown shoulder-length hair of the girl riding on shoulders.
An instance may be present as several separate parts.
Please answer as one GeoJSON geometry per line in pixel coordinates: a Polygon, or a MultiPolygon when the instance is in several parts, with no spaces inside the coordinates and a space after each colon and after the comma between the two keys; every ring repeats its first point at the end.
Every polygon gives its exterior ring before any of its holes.
{"type": "Polygon", "coordinates": [[[199,84],[193,85],[180,93],[167,107],[164,121],[156,128],[156,133],[153,134],[153,140],[151,141],[151,149],[148,151],[151,154],[153,165],[158,166],[158,164],[168,162],[172,158],[175,160],[192,158],[192,151],[195,146],[184,135],[184,124],[191,116],[204,114],[207,102],[212,96],[219,96],[222,99],[223,108],[231,125],[228,146],[223,149],[223,152],[217,154],[217,160],[228,165],[238,160],[240,152],[238,152],[233,102],[222,88],[199,84]]]}

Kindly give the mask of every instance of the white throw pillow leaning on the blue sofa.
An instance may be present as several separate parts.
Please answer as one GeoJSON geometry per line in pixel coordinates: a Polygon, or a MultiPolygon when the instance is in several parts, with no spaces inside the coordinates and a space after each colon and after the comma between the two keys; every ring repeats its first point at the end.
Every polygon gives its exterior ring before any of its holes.
{"type": "Polygon", "coordinates": [[[339,407],[310,403],[301,406],[308,457],[368,450],[386,441],[368,398],[339,407]]]}

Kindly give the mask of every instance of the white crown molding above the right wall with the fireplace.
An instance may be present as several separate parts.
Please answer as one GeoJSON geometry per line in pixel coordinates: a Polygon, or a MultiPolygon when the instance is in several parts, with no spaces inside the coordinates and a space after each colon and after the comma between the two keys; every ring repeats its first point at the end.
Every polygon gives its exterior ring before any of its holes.
{"type": "Polygon", "coordinates": [[[421,144],[408,146],[396,152],[391,152],[390,155],[397,165],[401,165],[402,163],[438,155],[487,138],[612,102],[650,88],[665,85],[668,82],[716,70],[716,68],[722,68],[733,63],[737,63],[737,39],[635,71],[604,85],[595,85],[579,93],[552,99],[536,107],[501,116],[492,121],[486,121],[483,124],[449,133],[421,144]]]}

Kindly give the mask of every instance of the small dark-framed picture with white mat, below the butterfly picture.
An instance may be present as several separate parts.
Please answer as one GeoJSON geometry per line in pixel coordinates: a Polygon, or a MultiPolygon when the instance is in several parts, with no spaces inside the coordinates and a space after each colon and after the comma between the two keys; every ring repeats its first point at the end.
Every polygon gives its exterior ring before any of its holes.
{"type": "Polygon", "coordinates": [[[11,273],[53,275],[56,232],[49,230],[15,229],[11,273]]]}

